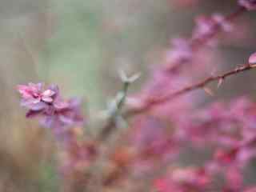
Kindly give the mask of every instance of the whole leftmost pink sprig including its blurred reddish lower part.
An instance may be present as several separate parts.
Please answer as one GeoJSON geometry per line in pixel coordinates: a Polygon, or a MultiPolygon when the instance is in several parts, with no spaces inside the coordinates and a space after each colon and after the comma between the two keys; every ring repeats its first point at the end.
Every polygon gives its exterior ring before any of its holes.
{"type": "Polygon", "coordinates": [[[77,177],[78,167],[87,166],[97,153],[90,142],[78,140],[78,133],[82,131],[79,127],[84,124],[81,101],[77,98],[64,100],[58,86],[44,89],[42,83],[29,83],[17,89],[22,96],[21,105],[28,110],[26,117],[38,118],[42,126],[54,134],[58,146],[63,147],[65,155],[60,162],[60,173],[63,177],[70,177],[70,174],[77,177]]]}

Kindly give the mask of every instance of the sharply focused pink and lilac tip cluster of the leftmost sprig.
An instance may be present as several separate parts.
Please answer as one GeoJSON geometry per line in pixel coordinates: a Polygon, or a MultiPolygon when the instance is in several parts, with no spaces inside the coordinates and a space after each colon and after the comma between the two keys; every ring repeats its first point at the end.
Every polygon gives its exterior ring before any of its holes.
{"type": "Polygon", "coordinates": [[[27,118],[40,118],[42,126],[61,134],[66,127],[81,125],[83,120],[80,101],[62,99],[58,86],[44,89],[42,83],[18,86],[22,95],[21,105],[28,109],[27,118]]]}

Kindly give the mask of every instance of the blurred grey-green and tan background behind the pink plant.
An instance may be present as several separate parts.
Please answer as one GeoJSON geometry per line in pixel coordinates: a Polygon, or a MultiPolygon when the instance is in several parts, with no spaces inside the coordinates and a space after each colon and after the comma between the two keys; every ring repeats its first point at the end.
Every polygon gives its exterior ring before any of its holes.
{"type": "MultiPolygon", "coordinates": [[[[24,118],[15,86],[58,84],[65,97],[84,100],[88,132],[98,131],[98,111],[120,89],[118,70],[140,71],[140,90],[150,68],[161,65],[170,39],[189,36],[194,16],[230,13],[235,0],[0,1],[0,191],[58,191],[54,144],[37,122],[24,118]],[[176,2],[176,3],[174,3],[176,2]],[[89,128],[88,128],[89,129],[89,128]]],[[[254,13],[241,18],[242,41],[220,46],[221,70],[246,62],[256,50],[254,13]],[[243,22],[242,22],[243,23],[243,22]]],[[[238,34],[238,37],[239,34],[238,34]]],[[[211,99],[255,95],[255,71],[230,79],[211,99]]]]}

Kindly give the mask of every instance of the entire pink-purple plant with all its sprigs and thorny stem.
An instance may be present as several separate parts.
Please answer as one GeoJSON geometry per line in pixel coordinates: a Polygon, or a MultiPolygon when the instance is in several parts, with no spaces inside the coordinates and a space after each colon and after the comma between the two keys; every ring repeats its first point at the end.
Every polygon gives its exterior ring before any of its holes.
{"type": "MultiPolygon", "coordinates": [[[[207,82],[218,80],[220,86],[226,76],[255,67],[256,56],[252,54],[247,68],[211,78],[218,63],[218,50],[215,49],[218,34],[232,33],[234,19],[249,10],[256,10],[256,1],[238,0],[238,6],[240,9],[228,16],[213,14],[196,18],[190,38],[172,41],[165,63],[162,68],[154,69],[142,92],[128,98],[126,93],[121,93],[121,103],[126,104],[128,112],[134,112],[127,114],[135,117],[128,123],[125,137],[118,135],[122,145],[110,146],[110,152],[106,153],[101,147],[109,144],[105,140],[78,141],[70,127],[82,126],[84,122],[80,102],[77,99],[64,100],[58,86],[46,89],[42,83],[18,86],[22,106],[28,109],[26,117],[38,117],[42,125],[53,130],[58,138],[71,136],[66,148],[70,155],[64,163],[65,170],[75,172],[79,177],[89,175],[86,181],[94,181],[92,172],[102,168],[95,165],[106,163],[106,167],[113,170],[101,170],[102,186],[122,185],[123,182],[118,181],[130,179],[134,182],[134,178],[143,180],[148,178],[146,175],[153,174],[150,182],[153,191],[158,192],[256,191],[256,186],[246,184],[243,174],[256,158],[256,103],[243,97],[230,104],[215,102],[198,110],[205,94],[200,91],[192,93],[197,88],[213,94],[206,87],[207,82]],[[197,83],[202,78],[206,81],[197,83]],[[180,91],[182,88],[183,92],[180,91]],[[170,97],[172,95],[176,97],[170,97]],[[201,158],[196,157],[197,163],[190,162],[189,166],[182,163],[182,155],[193,157],[193,152],[188,149],[202,154],[201,158]],[[102,163],[102,159],[109,162],[102,163]],[[84,169],[90,166],[95,169],[84,169]],[[163,176],[155,174],[157,170],[162,170],[163,176]]],[[[111,115],[118,117],[110,117],[110,126],[118,125],[113,123],[116,119],[126,118],[125,115],[122,117],[122,104],[114,107],[118,111],[111,115]]]]}

